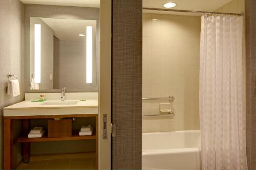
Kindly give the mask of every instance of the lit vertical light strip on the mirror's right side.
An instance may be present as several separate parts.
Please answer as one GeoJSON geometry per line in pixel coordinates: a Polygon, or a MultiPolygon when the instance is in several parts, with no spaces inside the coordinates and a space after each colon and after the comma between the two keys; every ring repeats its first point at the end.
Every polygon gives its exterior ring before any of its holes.
{"type": "Polygon", "coordinates": [[[86,82],[93,82],[93,27],[86,27],[86,82]]]}

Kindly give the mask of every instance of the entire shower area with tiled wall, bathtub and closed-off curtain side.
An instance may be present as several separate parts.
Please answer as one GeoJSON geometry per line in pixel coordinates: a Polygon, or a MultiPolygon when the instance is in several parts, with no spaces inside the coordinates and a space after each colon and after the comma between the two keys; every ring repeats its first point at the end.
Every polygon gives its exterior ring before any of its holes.
{"type": "Polygon", "coordinates": [[[142,169],[246,169],[244,1],[219,14],[146,2],[142,169]]]}

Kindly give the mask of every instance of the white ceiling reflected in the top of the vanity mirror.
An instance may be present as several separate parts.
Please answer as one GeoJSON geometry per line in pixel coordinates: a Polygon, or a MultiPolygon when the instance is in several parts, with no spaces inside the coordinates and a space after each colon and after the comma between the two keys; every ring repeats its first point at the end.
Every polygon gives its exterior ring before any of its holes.
{"type": "MultiPolygon", "coordinates": [[[[40,18],[51,29],[55,36],[62,41],[83,41],[85,37],[78,34],[86,35],[86,27],[92,26],[96,30],[96,20],[80,20],[80,19],[53,19],[40,18]]],[[[94,31],[95,32],[95,31],[94,31]]]]}

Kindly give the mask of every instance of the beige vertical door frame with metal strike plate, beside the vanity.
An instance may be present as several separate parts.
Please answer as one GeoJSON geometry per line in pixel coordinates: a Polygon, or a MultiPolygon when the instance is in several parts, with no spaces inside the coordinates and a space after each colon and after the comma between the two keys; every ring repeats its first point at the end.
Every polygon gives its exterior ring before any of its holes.
{"type": "Polygon", "coordinates": [[[100,0],[99,55],[99,169],[111,169],[111,32],[112,2],[100,0]],[[107,115],[107,138],[103,139],[103,114],[107,115]]]}

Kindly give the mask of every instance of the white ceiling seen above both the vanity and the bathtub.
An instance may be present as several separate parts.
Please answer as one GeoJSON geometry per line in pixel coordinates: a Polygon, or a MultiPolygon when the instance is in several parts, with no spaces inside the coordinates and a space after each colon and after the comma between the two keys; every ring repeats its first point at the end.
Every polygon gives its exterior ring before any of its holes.
{"type": "MultiPolygon", "coordinates": [[[[77,7],[100,7],[100,0],[20,0],[25,4],[44,4],[77,7]]],[[[120,0],[121,1],[121,0],[120,0]]],[[[163,4],[174,2],[173,9],[214,11],[232,0],[142,0],[143,7],[163,8],[163,4]]]]}

